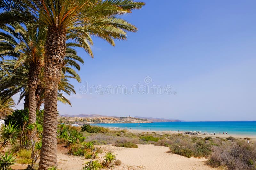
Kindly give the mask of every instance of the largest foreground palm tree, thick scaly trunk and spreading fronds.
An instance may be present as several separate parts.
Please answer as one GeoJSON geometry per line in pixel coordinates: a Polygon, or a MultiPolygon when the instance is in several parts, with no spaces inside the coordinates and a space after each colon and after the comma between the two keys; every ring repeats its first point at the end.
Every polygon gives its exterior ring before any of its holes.
{"type": "Polygon", "coordinates": [[[132,0],[3,0],[0,25],[30,23],[30,28],[47,27],[44,56],[45,104],[43,145],[39,169],[57,166],[57,93],[64,65],[67,36],[73,38],[93,57],[90,35],[115,45],[114,39],[125,40],[126,31],[137,28],[118,15],[140,9],[143,2],[132,0]]]}

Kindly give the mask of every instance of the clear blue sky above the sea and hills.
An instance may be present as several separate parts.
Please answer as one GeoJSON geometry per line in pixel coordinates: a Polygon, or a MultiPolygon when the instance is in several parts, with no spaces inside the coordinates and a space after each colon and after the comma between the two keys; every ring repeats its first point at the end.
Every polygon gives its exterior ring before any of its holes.
{"type": "Polygon", "coordinates": [[[138,28],[127,41],[112,47],[94,38],[94,59],[78,49],[82,83],[71,81],[76,95],[67,96],[72,107],[58,103],[60,114],[256,120],[256,1],[145,2],[123,16],[138,28]],[[86,82],[103,89],[172,86],[172,94],[84,94],[86,82]]]}

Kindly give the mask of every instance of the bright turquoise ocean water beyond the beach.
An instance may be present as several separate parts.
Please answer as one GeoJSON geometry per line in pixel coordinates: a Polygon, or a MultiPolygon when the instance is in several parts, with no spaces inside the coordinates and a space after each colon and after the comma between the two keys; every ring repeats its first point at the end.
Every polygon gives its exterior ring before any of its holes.
{"type": "Polygon", "coordinates": [[[132,128],[153,131],[201,131],[221,134],[256,135],[256,121],[221,121],[221,122],[153,122],[153,123],[106,123],[91,124],[102,127],[132,128]]]}

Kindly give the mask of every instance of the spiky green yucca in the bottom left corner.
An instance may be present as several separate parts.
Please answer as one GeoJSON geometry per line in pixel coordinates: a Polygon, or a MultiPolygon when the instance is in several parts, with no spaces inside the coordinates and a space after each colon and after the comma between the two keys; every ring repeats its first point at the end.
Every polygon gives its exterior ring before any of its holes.
{"type": "Polygon", "coordinates": [[[16,163],[16,158],[13,156],[13,152],[8,155],[9,151],[5,151],[5,154],[0,154],[0,169],[7,170],[16,163]]]}

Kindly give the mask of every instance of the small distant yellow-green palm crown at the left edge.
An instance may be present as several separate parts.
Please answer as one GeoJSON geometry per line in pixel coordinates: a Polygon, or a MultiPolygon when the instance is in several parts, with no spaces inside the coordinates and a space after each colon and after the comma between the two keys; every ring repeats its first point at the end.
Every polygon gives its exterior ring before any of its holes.
{"type": "Polygon", "coordinates": [[[0,98],[0,119],[11,114],[14,110],[12,107],[15,106],[14,100],[9,98],[7,100],[1,100],[0,98]]]}

